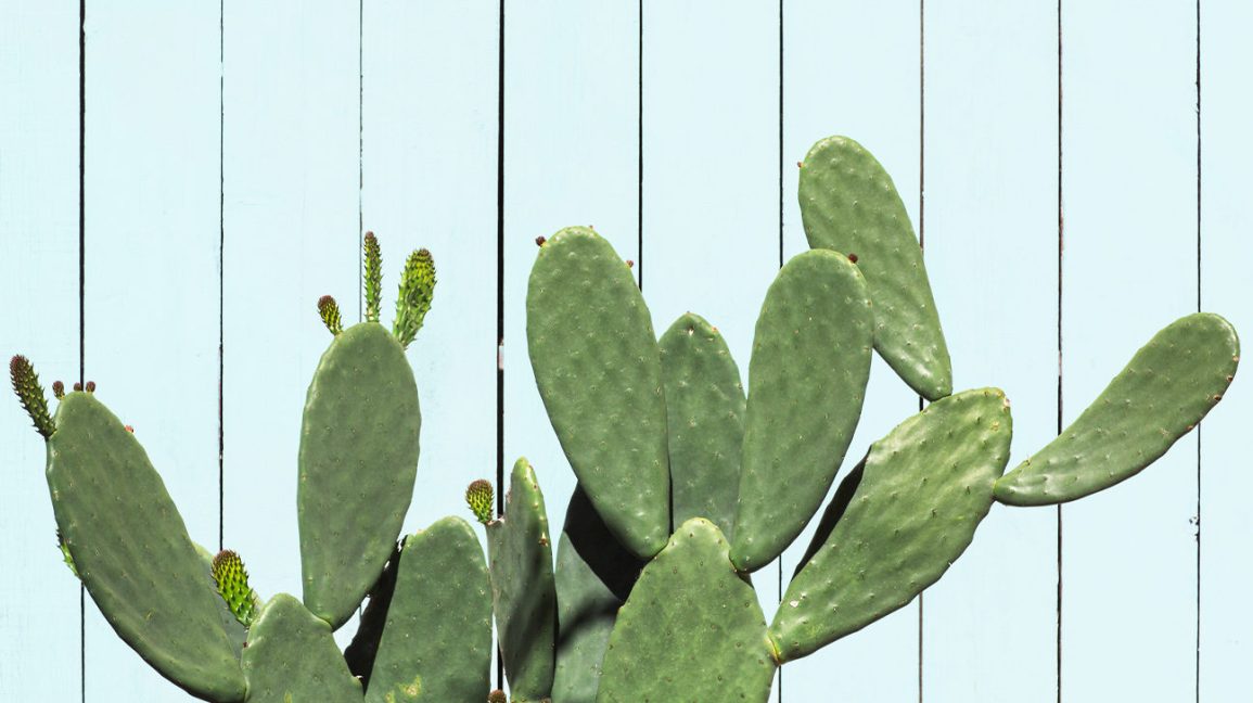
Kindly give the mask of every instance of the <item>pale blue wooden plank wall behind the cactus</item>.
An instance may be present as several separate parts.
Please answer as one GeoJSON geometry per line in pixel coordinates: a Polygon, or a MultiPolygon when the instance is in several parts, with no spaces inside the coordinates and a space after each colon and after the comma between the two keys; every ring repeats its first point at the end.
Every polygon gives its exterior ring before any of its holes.
{"type": "MultiPolygon", "coordinates": [[[[495,474],[497,13],[88,3],[86,377],[193,538],[221,533],[267,595],[299,591],[297,429],[327,342],[313,303],[333,293],[357,320],[361,223],[383,242],[388,291],[415,247],[440,271],[410,347],[424,434],[406,529],[465,515],[462,487],[495,474]]],[[[896,179],[956,386],[1006,390],[1015,461],[1058,431],[1059,370],[1069,421],[1198,294],[1253,336],[1247,3],[1200,5],[1199,239],[1197,5],[1063,8],[1060,366],[1056,3],[932,0],[923,18],[917,1],[787,0],[782,135],[778,3],[506,13],[504,452],[535,464],[554,525],[573,476],[526,358],[534,238],[594,224],[637,262],[658,330],[699,312],[747,371],[781,242],[806,247],[793,164],[827,134],[896,179]]],[[[48,383],[80,363],[78,61],[76,3],[0,1],[0,350],[48,383]]],[[[1063,700],[1253,699],[1249,383],[1144,476],[1061,511],[1063,700]]],[[[851,454],[917,409],[878,362],[870,392],[851,454]]],[[[0,700],[187,699],[90,600],[80,619],[41,469],[40,437],[0,402],[0,700]]],[[[774,699],[1055,700],[1058,519],[995,506],[921,608],[788,664],[774,699]]],[[[776,574],[756,576],[768,617],[776,574]]]]}

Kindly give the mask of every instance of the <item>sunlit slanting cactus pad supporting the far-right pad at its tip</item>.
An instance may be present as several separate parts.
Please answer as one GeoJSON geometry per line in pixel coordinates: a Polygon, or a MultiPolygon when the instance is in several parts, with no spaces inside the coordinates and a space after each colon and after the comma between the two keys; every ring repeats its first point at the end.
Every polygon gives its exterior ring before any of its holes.
{"type": "Polygon", "coordinates": [[[871,445],[774,615],[779,660],[857,632],[936,583],[991,509],[1011,435],[1005,395],[980,388],[927,406],[871,445]]]}

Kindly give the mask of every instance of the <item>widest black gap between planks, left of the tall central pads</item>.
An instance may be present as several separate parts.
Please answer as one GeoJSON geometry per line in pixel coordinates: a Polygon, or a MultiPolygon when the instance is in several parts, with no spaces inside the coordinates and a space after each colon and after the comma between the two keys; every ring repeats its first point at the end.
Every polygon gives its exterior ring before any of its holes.
{"type": "MultiPolygon", "coordinates": [[[[505,513],[505,0],[500,0],[496,61],[496,516],[505,513]]],[[[496,687],[505,659],[496,649],[496,687]]]]}

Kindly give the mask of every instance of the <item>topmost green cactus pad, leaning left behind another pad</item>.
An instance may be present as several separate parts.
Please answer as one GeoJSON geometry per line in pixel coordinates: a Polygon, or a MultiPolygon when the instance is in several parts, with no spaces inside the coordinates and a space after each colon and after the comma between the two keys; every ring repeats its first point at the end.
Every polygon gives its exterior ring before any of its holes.
{"type": "Polygon", "coordinates": [[[857,257],[875,301],[875,348],[927,400],[952,392],[922,251],[891,177],[861,144],[828,137],[801,164],[801,218],[813,248],[857,257]]]}

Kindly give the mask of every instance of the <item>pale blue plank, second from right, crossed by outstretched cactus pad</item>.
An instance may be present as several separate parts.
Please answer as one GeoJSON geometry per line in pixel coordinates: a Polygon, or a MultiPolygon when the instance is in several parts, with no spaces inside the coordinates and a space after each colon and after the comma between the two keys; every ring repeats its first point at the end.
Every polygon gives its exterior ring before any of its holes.
{"type": "MultiPolygon", "coordinates": [[[[1063,13],[1063,406],[1197,306],[1193,5],[1063,13]]],[[[1063,698],[1194,694],[1197,437],[1063,509],[1063,698]]]]}

